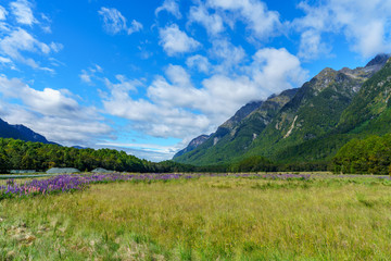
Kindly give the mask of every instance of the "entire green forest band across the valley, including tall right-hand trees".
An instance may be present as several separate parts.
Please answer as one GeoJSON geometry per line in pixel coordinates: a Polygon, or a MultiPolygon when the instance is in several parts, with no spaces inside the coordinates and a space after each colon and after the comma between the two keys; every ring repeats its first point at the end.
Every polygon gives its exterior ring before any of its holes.
{"type": "Polygon", "coordinates": [[[8,173],[10,170],[45,172],[50,167],[76,167],[80,171],[104,167],[139,173],[333,171],[343,174],[389,174],[390,162],[391,134],[353,139],[344,145],[331,161],[277,163],[261,156],[253,156],[231,163],[204,166],[174,161],[155,163],[114,149],[77,149],[0,138],[0,173],[8,173]]]}

